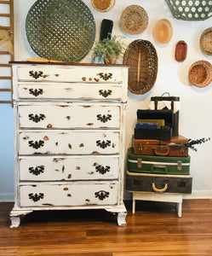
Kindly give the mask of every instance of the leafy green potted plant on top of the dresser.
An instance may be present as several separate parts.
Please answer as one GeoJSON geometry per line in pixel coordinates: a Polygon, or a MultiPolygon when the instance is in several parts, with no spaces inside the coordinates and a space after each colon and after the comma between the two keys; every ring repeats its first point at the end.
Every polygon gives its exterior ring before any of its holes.
{"type": "Polygon", "coordinates": [[[104,61],[106,64],[115,64],[119,55],[123,54],[126,45],[123,37],[107,37],[95,44],[93,49],[92,62],[104,61]]]}

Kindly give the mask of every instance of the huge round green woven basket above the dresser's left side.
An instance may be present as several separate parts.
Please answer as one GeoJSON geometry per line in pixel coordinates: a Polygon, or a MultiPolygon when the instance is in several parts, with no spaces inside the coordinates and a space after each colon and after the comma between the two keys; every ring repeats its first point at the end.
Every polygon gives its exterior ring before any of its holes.
{"type": "Polygon", "coordinates": [[[95,42],[95,19],[81,0],[37,0],[26,17],[26,36],[38,56],[77,62],[95,42]]]}

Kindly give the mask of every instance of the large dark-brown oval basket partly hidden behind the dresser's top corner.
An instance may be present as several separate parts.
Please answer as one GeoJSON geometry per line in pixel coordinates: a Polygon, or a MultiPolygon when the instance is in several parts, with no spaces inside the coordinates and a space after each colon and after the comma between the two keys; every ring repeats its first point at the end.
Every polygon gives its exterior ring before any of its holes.
{"type": "Polygon", "coordinates": [[[129,90],[145,94],[151,90],[158,74],[158,55],[151,42],[135,40],[123,55],[123,63],[129,65],[129,90]]]}

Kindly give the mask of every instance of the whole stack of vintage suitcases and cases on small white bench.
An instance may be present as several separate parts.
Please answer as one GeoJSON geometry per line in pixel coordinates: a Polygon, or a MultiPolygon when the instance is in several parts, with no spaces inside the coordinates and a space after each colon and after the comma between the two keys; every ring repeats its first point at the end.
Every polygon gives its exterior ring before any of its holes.
{"type": "Polygon", "coordinates": [[[191,194],[188,139],[179,135],[175,96],[152,97],[155,109],[138,109],[133,147],[128,150],[126,189],[130,192],[191,194]],[[159,101],[170,109],[158,109],[159,101]]]}

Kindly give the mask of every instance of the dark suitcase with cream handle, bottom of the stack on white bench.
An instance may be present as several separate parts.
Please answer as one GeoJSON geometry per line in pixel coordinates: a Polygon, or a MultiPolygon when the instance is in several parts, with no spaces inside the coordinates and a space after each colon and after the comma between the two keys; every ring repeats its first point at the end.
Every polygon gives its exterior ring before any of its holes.
{"type": "Polygon", "coordinates": [[[128,171],[126,189],[129,192],[191,194],[192,175],[146,174],[128,171]]]}

